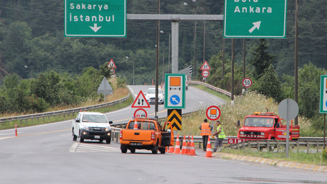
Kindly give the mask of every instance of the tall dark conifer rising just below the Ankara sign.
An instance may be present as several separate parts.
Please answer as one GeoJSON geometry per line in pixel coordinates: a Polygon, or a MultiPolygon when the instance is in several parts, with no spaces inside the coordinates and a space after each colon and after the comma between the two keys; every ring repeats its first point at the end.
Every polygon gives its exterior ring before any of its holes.
{"type": "Polygon", "coordinates": [[[259,43],[255,44],[254,48],[250,50],[253,59],[249,60],[249,63],[254,67],[253,77],[255,80],[260,79],[264,75],[265,70],[276,58],[275,55],[271,55],[266,51],[267,48],[267,41],[265,39],[259,39],[259,43]]]}

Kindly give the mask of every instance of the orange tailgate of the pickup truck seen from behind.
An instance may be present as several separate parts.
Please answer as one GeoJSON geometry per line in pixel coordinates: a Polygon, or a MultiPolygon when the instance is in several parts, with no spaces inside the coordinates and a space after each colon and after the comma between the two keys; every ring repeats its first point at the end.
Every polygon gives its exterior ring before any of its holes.
{"type": "Polygon", "coordinates": [[[123,141],[151,141],[152,130],[123,130],[123,141]]]}

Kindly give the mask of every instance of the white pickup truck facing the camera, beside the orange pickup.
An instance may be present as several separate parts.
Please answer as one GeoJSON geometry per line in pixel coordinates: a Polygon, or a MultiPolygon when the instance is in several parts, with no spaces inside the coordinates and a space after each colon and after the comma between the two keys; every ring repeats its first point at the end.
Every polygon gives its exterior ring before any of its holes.
{"type": "Polygon", "coordinates": [[[76,119],[72,121],[72,137],[73,141],[80,138],[80,142],[84,139],[99,140],[100,143],[105,140],[106,143],[111,142],[111,128],[104,114],[100,112],[79,112],[76,119]]]}

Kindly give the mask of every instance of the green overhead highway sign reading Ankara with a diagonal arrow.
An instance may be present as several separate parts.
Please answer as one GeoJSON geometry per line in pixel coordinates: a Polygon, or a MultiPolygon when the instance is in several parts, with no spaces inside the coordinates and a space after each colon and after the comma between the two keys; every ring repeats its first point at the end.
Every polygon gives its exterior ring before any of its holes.
{"type": "Polygon", "coordinates": [[[286,38],[287,0],[225,0],[224,38],[286,38]]]}

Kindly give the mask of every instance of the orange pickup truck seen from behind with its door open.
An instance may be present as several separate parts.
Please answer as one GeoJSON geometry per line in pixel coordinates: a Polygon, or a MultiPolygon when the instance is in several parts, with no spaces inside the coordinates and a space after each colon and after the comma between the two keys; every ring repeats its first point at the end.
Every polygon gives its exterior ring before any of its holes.
{"type": "Polygon", "coordinates": [[[160,153],[164,154],[165,147],[174,144],[174,133],[170,127],[171,123],[166,122],[161,130],[158,121],[151,118],[130,120],[126,129],[120,132],[122,153],[126,153],[127,149],[131,153],[135,153],[136,149],[147,149],[157,154],[159,149],[160,153]]]}

